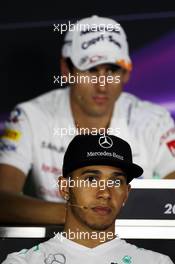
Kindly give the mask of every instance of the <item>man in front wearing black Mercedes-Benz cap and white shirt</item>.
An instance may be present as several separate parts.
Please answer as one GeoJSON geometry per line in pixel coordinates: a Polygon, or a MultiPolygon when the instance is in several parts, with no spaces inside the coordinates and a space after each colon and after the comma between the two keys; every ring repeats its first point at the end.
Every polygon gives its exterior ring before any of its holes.
{"type": "Polygon", "coordinates": [[[65,153],[59,179],[67,201],[64,232],[28,251],[10,254],[3,264],[172,264],[168,256],[140,249],[115,235],[115,220],[128,198],[129,182],[142,173],[132,162],[126,141],[109,135],[76,136],[65,153]]]}

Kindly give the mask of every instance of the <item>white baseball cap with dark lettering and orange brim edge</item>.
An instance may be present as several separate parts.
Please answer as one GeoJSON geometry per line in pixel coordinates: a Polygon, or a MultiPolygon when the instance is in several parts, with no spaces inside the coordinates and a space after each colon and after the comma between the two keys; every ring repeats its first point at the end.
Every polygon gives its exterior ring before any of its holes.
{"type": "Polygon", "coordinates": [[[81,71],[104,63],[132,69],[126,34],[110,18],[92,16],[72,25],[64,38],[62,56],[81,71]]]}

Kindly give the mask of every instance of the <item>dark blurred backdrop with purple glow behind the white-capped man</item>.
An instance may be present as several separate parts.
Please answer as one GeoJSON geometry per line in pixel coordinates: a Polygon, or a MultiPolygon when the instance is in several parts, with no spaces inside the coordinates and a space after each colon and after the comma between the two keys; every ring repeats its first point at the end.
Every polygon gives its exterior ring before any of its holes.
{"type": "Polygon", "coordinates": [[[57,89],[62,35],[53,24],[97,14],[124,27],[133,60],[125,90],[156,102],[175,118],[175,9],[173,1],[5,2],[0,9],[0,128],[19,102],[57,89]]]}

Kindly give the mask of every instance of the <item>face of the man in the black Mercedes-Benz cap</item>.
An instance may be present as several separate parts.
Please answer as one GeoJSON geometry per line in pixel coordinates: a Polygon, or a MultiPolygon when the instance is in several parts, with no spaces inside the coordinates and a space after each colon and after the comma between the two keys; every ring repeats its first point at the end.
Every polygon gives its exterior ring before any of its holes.
{"type": "Polygon", "coordinates": [[[70,188],[70,203],[88,209],[70,207],[76,221],[92,230],[105,230],[115,223],[130,186],[124,172],[112,166],[87,166],[73,172],[77,187],[70,188]],[[85,187],[78,187],[84,184],[85,187]]]}

